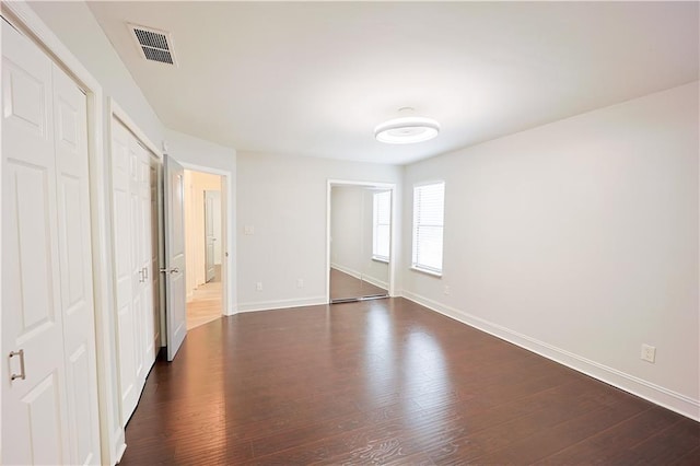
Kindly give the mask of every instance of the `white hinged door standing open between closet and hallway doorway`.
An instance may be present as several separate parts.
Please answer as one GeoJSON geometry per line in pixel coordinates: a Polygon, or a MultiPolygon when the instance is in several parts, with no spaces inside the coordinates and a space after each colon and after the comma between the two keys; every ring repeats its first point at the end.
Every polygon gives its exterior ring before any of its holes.
{"type": "Polygon", "coordinates": [[[164,156],[165,172],[165,326],[167,360],[172,361],[187,335],[185,313],[185,170],[164,156]]]}

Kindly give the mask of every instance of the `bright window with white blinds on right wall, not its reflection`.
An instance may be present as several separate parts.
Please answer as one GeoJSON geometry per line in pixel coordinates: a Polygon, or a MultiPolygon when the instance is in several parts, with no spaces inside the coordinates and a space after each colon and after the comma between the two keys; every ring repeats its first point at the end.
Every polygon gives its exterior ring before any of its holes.
{"type": "Polygon", "coordinates": [[[412,268],[442,275],[444,210],[444,182],[413,187],[412,268]]]}

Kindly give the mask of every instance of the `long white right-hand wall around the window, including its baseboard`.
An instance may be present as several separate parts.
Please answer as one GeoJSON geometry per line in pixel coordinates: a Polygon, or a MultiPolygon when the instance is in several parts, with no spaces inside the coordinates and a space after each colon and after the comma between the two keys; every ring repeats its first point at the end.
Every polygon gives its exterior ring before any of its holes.
{"type": "Polygon", "coordinates": [[[696,82],[408,166],[404,257],[412,185],[446,194],[444,276],[405,295],[698,418],[698,110],[696,82]]]}

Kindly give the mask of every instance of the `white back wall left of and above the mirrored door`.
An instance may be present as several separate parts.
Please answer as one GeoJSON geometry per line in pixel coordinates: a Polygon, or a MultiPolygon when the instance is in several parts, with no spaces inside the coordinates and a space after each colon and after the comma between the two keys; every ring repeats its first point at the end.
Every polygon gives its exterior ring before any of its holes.
{"type": "Polygon", "coordinates": [[[327,180],[398,184],[401,174],[393,165],[240,152],[238,310],[325,303],[327,180]],[[245,235],[245,225],[255,234],[245,235]]]}

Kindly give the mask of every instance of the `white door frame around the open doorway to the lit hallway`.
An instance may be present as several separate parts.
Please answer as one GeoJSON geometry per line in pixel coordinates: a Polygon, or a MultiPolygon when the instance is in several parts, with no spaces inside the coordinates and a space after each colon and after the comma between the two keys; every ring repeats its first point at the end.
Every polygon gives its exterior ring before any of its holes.
{"type": "MultiPolygon", "coordinates": [[[[221,249],[221,282],[223,283],[221,296],[221,305],[223,308],[222,315],[234,315],[236,313],[235,303],[235,265],[234,265],[234,231],[231,222],[234,219],[230,217],[230,210],[233,203],[233,173],[226,170],[212,168],[210,166],[196,165],[183,161],[177,161],[185,170],[191,172],[202,172],[210,175],[221,176],[221,236],[223,238],[223,246],[221,249]]],[[[187,234],[187,233],[185,233],[187,234]]]]}

